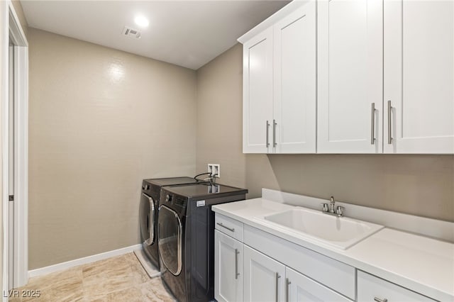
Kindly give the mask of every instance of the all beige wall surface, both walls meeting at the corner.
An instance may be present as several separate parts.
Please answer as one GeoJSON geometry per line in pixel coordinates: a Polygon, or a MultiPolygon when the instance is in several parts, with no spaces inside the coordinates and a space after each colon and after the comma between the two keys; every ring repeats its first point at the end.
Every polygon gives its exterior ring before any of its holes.
{"type": "Polygon", "coordinates": [[[30,28],[30,269],[135,245],[140,181],[204,172],[454,221],[454,156],[244,155],[242,47],[197,72],[30,28]]]}

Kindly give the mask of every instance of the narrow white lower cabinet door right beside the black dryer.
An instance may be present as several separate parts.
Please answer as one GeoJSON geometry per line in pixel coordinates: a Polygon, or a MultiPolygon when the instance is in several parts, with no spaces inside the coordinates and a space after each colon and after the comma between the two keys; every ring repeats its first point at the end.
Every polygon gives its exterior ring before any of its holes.
{"type": "Polygon", "coordinates": [[[243,242],[214,231],[214,298],[243,301],[243,242]]]}

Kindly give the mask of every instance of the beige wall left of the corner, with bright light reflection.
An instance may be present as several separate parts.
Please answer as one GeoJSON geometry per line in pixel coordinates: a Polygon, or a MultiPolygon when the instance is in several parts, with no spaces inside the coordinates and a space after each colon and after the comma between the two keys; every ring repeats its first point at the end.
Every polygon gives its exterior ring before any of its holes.
{"type": "Polygon", "coordinates": [[[196,73],[28,34],[29,269],[138,244],[142,179],[195,173],[196,73]]]}

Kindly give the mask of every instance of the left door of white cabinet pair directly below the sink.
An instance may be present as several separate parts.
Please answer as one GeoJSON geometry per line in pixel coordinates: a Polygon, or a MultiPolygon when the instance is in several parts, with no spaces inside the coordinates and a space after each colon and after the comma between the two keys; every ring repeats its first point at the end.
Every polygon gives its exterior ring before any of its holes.
{"type": "Polygon", "coordinates": [[[284,301],[285,266],[244,246],[244,301],[284,301]]]}

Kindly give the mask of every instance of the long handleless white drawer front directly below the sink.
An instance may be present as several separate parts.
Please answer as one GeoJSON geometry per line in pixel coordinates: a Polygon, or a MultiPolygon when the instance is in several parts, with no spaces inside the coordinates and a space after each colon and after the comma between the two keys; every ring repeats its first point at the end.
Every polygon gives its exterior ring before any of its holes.
{"type": "Polygon", "coordinates": [[[244,228],[244,243],[330,289],[355,299],[354,267],[249,225],[244,228]]]}

